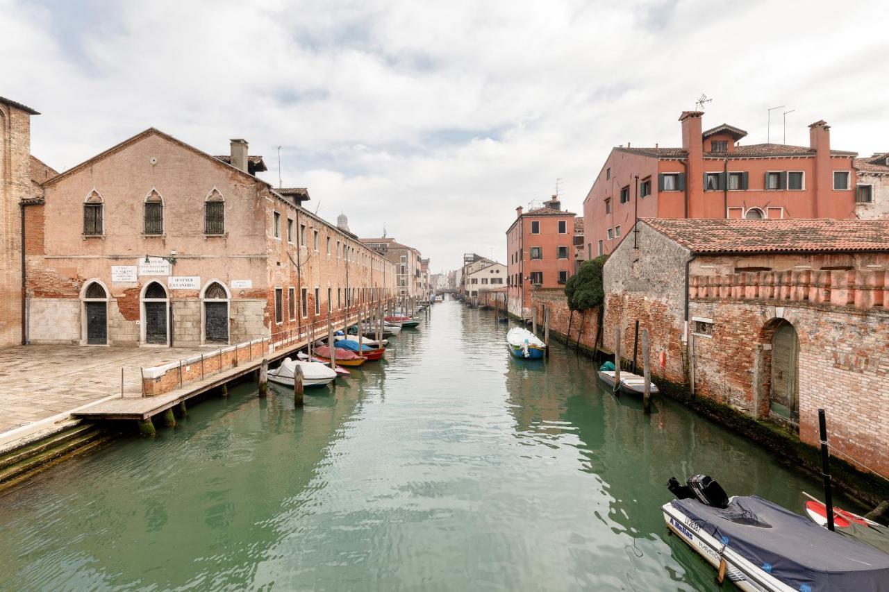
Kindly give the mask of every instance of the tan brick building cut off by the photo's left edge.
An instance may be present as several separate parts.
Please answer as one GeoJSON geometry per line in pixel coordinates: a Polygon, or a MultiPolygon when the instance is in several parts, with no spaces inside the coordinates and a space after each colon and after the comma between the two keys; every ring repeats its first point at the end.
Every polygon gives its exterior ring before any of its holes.
{"type": "Polygon", "coordinates": [[[43,195],[39,183],[56,174],[31,156],[34,109],[0,97],[0,347],[24,335],[22,204],[43,195]]]}

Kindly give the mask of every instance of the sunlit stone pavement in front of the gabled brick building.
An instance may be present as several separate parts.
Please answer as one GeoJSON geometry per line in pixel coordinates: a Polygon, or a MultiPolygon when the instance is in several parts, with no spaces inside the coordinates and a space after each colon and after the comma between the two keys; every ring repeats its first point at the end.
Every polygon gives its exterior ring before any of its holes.
{"type": "Polygon", "coordinates": [[[0,349],[0,435],[121,393],[140,396],[140,366],[165,364],[212,348],[91,348],[32,345],[0,349]]]}

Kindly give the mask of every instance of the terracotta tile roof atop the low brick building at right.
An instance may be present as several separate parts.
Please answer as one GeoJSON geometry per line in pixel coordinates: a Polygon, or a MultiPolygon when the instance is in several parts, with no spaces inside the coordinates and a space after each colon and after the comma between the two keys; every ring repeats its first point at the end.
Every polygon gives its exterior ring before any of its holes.
{"type": "Polygon", "coordinates": [[[695,253],[889,252],[889,220],[640,221],[695,253]]]}

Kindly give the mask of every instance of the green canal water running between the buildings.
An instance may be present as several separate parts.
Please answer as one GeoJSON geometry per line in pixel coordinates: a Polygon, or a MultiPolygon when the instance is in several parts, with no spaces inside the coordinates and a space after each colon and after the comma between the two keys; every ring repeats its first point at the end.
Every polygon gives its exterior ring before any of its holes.
{"type": "Polygon", "coordinates": [[[714,589],[667,536],[669,476],[797,511],[818,492],[679,404],[645,416],[559,344],[513,359],[508,328],[437,304],[300,410],[242,385],[0,494],[0,588],[714,589]]]}

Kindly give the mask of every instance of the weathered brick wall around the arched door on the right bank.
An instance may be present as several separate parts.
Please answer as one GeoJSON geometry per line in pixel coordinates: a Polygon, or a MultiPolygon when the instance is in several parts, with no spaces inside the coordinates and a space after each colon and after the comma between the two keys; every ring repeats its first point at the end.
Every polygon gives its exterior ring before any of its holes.
{"type": "MultiPolygon", "coordinates": [[[[889,476],[889,312],[815,303],[699,299],[693,316],[713,320],[693,337],[696,392],[755,416],[769,405],[770,340],[776,319],[799,338],[799,435],[818,443],[818,409],[831,445],[889,476]]],[[[848,459],[846,459],[848,460],[848,459]]]]}

